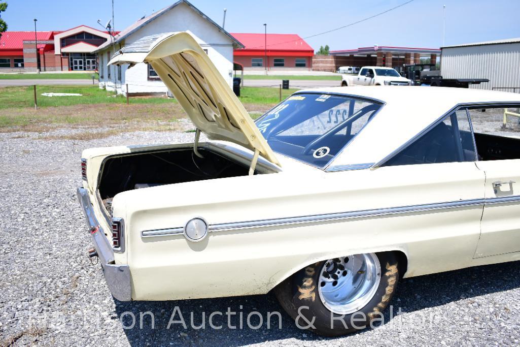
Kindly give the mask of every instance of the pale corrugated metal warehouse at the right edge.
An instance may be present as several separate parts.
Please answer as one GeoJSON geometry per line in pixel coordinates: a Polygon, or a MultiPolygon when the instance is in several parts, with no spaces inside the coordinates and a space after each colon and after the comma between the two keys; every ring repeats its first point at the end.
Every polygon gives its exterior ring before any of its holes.
{"type": "Polygon", "coordinates": [[[520,38],[441,47],[444,78],[487,78],[470,88],[520,93],[520,38]]]}

